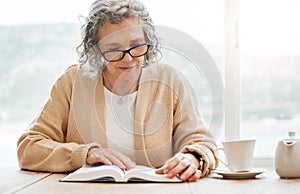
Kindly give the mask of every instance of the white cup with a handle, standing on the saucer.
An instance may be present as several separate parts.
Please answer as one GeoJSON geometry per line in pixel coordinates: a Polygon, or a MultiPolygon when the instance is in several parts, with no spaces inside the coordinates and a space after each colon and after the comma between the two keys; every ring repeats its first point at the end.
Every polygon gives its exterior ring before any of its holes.
{"type": "Polygon", "coordinates": [[[223,141],[223,148],[217,148],[216,157],[230,171],[250,171],[252,169],[253,151],[256,140],[223,141]],[[220,157],[219,151],[225,154],[225,161],[220,157]]]}

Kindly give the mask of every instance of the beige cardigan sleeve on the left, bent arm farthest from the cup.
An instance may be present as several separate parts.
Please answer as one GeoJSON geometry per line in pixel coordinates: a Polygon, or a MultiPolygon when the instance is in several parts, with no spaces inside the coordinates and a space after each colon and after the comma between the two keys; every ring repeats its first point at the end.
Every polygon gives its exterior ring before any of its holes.
{"type": "Polygon", "coordinates": [[[19,138],[17,154],[22,169],[67,172],[85,164],[89,146],[93,145],[65,142],[77,69],[77,66],[68,68],[56,81],[40,114],[19,138]]]}

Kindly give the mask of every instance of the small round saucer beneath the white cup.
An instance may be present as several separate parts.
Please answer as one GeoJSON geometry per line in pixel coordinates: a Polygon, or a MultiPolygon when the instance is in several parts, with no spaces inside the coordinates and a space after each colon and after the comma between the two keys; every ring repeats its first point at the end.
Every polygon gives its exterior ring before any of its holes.
{"type": "Polygon", "coordinates": [[[265,171],[266,169],[263,168],[253,168],[252,170],[245,172],[232,172],[226,169],[216,169],[213,172],[222,175],[225,179],[251,179],[265,171]]]}

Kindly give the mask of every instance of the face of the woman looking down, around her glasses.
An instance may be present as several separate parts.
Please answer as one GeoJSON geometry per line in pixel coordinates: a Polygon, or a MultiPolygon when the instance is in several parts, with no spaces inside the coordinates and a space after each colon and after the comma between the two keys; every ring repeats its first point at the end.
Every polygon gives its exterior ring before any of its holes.
{"type": "MultiPolygon", "coordinates": [[[[105,23],[98,31],[97,40],[102,53],[111,50],[127,50],[146,43],[143,28],[137,17],[130,17],[119,24],[105,23]]],[[[119,61],[107,62],[105,73],[113,80],[122,75],[126,81],[140,75],[143,62],[144,56],[132,57],[126,53],[119,61]]]]}

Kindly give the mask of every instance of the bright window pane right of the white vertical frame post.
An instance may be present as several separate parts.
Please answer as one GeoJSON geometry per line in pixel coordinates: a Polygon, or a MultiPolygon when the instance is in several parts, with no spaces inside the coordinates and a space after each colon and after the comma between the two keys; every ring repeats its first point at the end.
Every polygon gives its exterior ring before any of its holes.
{"type": "Polygon", "coordinates": [[[241,137],[274,157],[289,130],[300,134],[300,2],[240,1],[241,137]]]}

